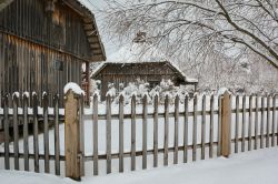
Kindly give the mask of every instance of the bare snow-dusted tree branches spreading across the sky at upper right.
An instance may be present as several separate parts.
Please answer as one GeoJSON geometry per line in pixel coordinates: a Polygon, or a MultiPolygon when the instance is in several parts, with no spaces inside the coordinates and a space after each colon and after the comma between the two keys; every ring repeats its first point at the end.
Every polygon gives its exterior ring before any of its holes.
{"type": "Polygon", "coordinates": [[[105,30],[122,42],[143,32],[140,41],[173,59],[187,55],[193,65],[211,52],[252,52],[278,69],[277,0],[106,1],[105,30]]]}

